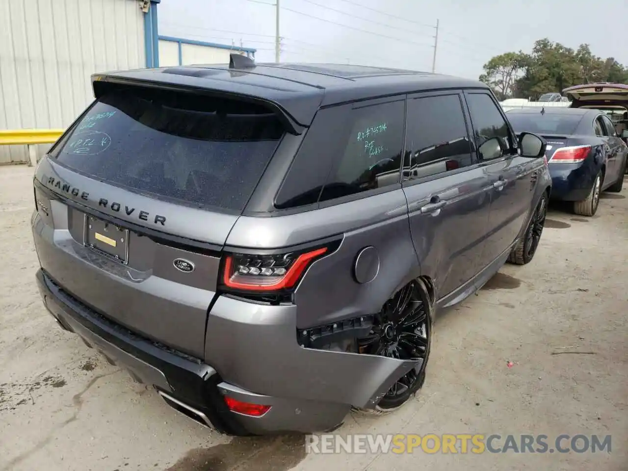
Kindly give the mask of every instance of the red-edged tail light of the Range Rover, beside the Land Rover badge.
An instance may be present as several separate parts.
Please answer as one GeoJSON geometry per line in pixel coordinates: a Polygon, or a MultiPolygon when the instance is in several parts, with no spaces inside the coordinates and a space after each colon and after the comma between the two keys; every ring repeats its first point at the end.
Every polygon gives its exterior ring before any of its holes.
{"type": "Polygon", "coordinates": [[[230,254],[225,258],[222,282],[244,291],[290,290],[313,261],[332,252],[317,247],[283,254],[230,254]]]}

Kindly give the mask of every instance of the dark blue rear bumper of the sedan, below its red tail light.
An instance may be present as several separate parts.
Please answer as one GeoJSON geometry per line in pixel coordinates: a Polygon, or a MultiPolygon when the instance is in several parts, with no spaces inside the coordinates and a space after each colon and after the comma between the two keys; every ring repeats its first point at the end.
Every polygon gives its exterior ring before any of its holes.
{"type": "Polygon", "coordinates": [[[563,201],[580,201],[587,198],[593,188],[595,170],[588,163],[583,164],[552,164],[549,161],[551,174],[551,198],[563,201]]]}

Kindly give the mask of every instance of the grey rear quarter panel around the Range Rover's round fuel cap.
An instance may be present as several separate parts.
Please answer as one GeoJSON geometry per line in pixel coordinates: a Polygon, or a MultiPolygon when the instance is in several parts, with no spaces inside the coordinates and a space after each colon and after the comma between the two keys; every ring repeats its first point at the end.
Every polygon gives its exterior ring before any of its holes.
{"type": "Polygon", "coordinates": [[[394,291],[420,275],[400,185],[396,190],[299,214],[242,216],[225,248],[275,249],[334,235],[342,237],[340,247],[313,263],[296,290],[298,328],[377,313],[394,291]],[[373,281],[360,284],[354,278],[355,259],[369,246],[377,250],[379,271],[373,281]]]}

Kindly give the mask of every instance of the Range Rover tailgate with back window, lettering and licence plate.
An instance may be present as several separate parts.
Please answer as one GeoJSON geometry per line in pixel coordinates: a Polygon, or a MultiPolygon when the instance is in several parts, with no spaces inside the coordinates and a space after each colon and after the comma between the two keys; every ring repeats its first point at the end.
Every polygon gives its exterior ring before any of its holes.
{"type": "Polygon", "coordinates": [[[104,95],[38,166],[42,268],[93,310],[202,357],[220,250],[282,136],[238,100],[104,95]]]}

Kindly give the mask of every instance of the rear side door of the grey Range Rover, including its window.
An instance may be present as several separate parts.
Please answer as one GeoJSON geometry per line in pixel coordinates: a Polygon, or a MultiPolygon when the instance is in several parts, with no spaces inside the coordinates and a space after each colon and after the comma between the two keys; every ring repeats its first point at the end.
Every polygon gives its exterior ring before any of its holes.
{"type": "Polygon", "coordinates": [[[459,91],[408,96],[403,190],[423,273],[439,298],[477,274],[489,221],[489,180],[472,154],[459,91]]]}

